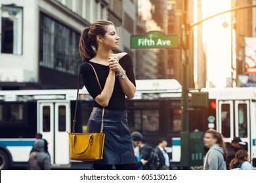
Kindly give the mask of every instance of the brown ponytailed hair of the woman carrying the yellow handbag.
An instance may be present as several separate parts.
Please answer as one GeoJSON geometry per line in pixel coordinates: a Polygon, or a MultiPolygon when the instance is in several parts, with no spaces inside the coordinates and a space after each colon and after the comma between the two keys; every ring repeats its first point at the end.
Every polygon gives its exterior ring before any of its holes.
{"type": "Polygon", "coordinates": [[[96,50],[98,49],[96,36],[100,35],[104,37],[106,34],[106,27],[108,25],[114,24],[110,21],[98,20],[94,22],[90,27],[85,27],[81,31],[79,40],[79,53],[83,62],[89,61],[95,57],[96,50]]]}

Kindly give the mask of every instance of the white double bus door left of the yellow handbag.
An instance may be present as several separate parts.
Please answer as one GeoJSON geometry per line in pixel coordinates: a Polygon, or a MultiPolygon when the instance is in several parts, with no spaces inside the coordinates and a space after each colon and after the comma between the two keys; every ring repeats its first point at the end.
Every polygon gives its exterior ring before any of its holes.
{"type": "Polygon", "coordinates": [[[38,101],[37,131],[48,141],[52,165],[69,165],[70,103],[38,101]]]}

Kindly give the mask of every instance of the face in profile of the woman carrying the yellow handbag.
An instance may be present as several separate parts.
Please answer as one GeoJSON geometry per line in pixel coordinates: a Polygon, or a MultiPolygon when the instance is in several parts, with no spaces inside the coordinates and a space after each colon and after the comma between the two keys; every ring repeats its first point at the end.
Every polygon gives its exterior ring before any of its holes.
{"type": "Polygon", "coordinates": [[[102,46],[110,50],[118,48],[118,41],[120,37],[116,34],[116,28],[114,25],[108,25],[106,27],[105,37],[102,37],[102,46]]]}

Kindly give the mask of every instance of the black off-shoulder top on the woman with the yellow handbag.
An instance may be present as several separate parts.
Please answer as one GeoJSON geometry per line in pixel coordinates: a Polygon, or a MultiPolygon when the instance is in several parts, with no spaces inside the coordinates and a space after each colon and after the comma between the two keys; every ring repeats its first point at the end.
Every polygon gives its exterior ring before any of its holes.
{"type": "MultiPolygon", "coordinates": [[[[100,80],[100,85],[102,86],[102,90],[106,83],[106,78],[108,77],[108,73],[110,71],[109,67],[107,65],[102,65],[99,63],[94,63],[91,61],[88,61],[93,65],[95,68],[95,71],[98,75],[98,79],[100,80]]],[[[131,56],[129,54],[126,54],[121,59],[119,59],[119,64],[123,69],[126,71],[127,78],[136,86],[135,84],[135,76],[133,73],[133,62],[131,60],[131,56]]],[[[91,65],[87,63],[83,63],[80,67],[81,69],[81,76],[83,78],[83,83],[85,84],[85,88],[90,93],[90,95],[95,99],[96,96],[98,96],[101,93],[101,90],[98,86],[98,82],[95,77],[95,73],[93,71],[93,68],[91,65]]],[[[100,107],[98,103],[95,101],[95,107],[100,107]]],[[[126,110],[125,105],[125,94],[121,90],[121,85],[119,83],[119,79],[116,76],[114,90],[112,93],[112,96],[110,98],[110,101],[108,103],[107,109],[114,109],[114,110],[126,110]]]]}

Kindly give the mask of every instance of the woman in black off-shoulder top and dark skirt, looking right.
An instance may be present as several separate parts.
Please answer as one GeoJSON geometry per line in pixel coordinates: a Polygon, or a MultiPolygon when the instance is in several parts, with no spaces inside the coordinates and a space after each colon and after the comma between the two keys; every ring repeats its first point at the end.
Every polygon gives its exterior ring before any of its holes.
{"type": "Polygon", "coordinates": [[[120,37],[114,24],[99,20],[81,31],[79,52],[83,59],[81,75],[85,87],[95,100],[87,132],[100,132],[102,107],[106,139],[104,155],[93,163],[93,169],[135,169],[135,154],[131,133],[127,124],[125,95],[132,99],[136,85],[131,56],[127,53],[114,54],[120,37]],[[95,78],[91,63],[96,70],[102,91],[95,78]]]}

